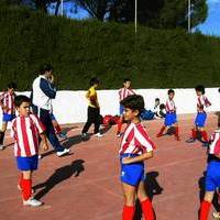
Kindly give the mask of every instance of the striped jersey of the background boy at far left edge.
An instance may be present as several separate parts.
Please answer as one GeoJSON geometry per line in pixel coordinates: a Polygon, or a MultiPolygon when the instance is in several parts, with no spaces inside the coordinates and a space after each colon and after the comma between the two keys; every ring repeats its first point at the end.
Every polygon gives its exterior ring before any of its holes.
{"type": "Polygon", "coordinates": [[[8,114],[15,113],[14,97],[15,97],[15,94],[10,94],[9,91],[6,91],[0,96],[3,113],[8,113],[8,114]],[[7,107],[7,109],[4,109],[3,107],[7,107]]]}

